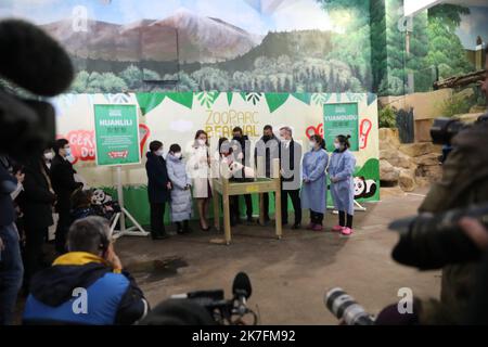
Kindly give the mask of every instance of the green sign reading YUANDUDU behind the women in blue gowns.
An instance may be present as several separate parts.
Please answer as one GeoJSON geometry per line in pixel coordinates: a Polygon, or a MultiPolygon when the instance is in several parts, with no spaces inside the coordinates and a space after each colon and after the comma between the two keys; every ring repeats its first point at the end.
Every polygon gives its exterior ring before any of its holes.
{"type": "Polygon", "coordinates": [[[334,151],[334,139],[339,134],[349,134],[350,150],[359,151],[357,103],[325,104],[323,106],[323,127],[328,151],[334,151]]]}

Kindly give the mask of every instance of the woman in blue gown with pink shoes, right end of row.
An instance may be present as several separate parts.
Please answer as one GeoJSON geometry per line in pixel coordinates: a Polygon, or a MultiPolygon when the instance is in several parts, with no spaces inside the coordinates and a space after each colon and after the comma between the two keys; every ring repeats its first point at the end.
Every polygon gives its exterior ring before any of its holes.
{"type": "Polygon", "coordinates": [[[354,172],[356,158],[349,151],[350,136],[339,134],[335,138],[329,176],[331,178],[331,194],[334,206],[338,210],[339,223],[332,231],[341,232],[343,235],[352,233],[352,216],[355,213],[355,183],[354,172]]]}

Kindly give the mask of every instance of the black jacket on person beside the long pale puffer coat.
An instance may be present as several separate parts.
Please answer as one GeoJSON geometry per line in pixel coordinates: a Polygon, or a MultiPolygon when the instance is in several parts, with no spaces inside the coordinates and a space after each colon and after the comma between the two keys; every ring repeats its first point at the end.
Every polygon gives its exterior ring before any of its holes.
{"type": "Polygon", "coordinates": [[[164,204],[169,202],[170,192],[167,188],[169,177],[166,160],[152,152],[147,152],[145,156],[147,157],[145,170],[147,172],[147,195],[150,203],[164,204]]]}

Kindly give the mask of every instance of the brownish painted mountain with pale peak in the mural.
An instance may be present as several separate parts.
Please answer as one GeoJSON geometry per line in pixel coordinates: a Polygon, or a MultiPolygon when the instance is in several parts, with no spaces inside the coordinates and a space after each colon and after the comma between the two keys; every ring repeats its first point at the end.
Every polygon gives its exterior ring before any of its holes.
{"type": "Polygon", "coordinates": [[[86,33],[72,30],[72,21],[41,27],[75,57],[123,62],[215,63],[243,55],[262,40],[224,21],[188,10],[162,21],[142,20],[128,25],[89,21],[86,33]]]}

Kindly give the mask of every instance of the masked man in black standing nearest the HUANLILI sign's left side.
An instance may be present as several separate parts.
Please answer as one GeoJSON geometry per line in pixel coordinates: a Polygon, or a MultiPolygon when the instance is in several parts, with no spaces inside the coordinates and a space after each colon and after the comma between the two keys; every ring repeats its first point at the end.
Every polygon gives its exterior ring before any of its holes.
{"type": "MultiPolygon", "coordinates": [[[[51,162],[51,182],[57,195],[56,211],[60,216],[56,227],[55,247],[57,253],[66,250],[66,233],[70,224],[70,197],[75,190],[84,187],[75,181],[75,169],[69,162],[73,158],[69,142],[59,139],[54,143],[54,158],[51,162]]],[[[46,158],[46,156],[44,156],[46,158]]]]}

